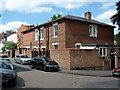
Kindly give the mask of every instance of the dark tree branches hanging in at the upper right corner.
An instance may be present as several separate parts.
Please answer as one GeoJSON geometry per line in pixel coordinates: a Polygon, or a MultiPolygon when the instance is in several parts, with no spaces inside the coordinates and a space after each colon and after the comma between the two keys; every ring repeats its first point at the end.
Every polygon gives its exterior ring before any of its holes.
{"type": "Polygon", "coordinates": [[[116,2],[116,6],[117,13],[113,15],[110,19],[112,23],[118,25],[118,28],[120,29],[120,1],[116,2]]]}

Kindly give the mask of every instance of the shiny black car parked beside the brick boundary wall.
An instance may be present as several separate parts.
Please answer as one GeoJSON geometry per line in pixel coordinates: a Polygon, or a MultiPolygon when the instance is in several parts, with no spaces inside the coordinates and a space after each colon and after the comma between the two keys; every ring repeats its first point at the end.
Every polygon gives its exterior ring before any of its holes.
{"type": "Polygon", "coordinates": [[[33,58],[30,62],[30,67],[41,69],[43,71],[58,71],[59,70],[59,65],[55,61],[51,59],[47,59],[47,58],[42,58],[42,57],[33,58]]]}

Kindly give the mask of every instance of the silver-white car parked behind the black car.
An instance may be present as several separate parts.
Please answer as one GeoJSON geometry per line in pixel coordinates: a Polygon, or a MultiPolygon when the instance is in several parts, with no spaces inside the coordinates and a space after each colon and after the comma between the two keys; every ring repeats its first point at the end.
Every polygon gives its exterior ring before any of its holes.
{"type": "Polygon", "coordinates": [[[31,58],[29,58],[25,54],[19,54],[19,55],[15,56],[14,60],[15,60],[16,63],[20,63],[20,64],[23,65],[23,64],[29,64],[30,61],[31,61],[31,58]]]}

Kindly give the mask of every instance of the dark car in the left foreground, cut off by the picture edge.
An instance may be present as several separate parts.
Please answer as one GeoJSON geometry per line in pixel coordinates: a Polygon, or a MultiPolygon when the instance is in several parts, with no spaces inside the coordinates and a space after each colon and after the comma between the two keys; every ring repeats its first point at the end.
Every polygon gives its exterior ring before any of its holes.
{"type": "Polygon", "coordinates": [[[0,83],[2,86],[16,85],[17,74],[9,61],[0,61],[0,83]]]}

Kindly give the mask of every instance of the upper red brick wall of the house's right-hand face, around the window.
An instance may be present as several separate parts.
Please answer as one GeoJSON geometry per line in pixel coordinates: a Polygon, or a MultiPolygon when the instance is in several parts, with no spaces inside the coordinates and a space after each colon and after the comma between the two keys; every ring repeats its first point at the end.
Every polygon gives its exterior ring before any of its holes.
{"type": "MultiPolygon", "coordinates": [[[[97,37],[89,36],[90,23],[66,20],[66,48],[75,48],[75,43],[112,44],[114,42],[113,28],[97,25],[97,37]]],[[[93,24],[94,25],[94,24],[93,24]]]]}

